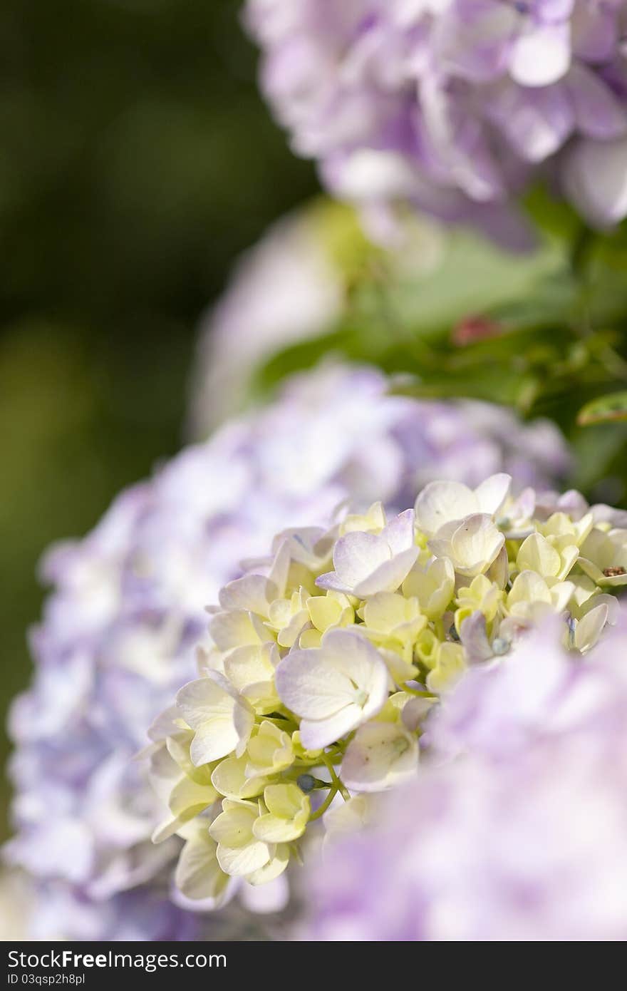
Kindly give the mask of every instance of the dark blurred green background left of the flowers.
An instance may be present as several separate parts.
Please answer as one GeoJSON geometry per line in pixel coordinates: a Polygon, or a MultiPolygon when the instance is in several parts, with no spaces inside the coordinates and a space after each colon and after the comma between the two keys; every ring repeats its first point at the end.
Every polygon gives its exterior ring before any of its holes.
{"type": "Polygon", "coordinates": [[[3,722],[43,549],[176,450],[200,311],[316,186],[261,102],[239,7],[1,5],[3,722]]]}

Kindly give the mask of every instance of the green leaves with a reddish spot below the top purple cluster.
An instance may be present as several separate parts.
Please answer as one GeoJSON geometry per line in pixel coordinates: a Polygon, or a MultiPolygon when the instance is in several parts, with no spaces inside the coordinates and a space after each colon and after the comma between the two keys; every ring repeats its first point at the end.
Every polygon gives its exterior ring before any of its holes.
{"type": "Polygon", "coordinates": [[[267,390],[332,353],[378,365],[404,394],[486,399],[549,416],[579,454],[577,483],[588,495],[624,501],[625,432],[591,443],[582,434],[587,424],[608,430],[627,416],[627,233],[587,230],[543,190],[528,205],[541,221],[529,255],[467,231],[440,233],[437,261],[414,270],[406,258],[399,265],[362,248],[337,326],[274,355],[258,385],[267,390]]]}

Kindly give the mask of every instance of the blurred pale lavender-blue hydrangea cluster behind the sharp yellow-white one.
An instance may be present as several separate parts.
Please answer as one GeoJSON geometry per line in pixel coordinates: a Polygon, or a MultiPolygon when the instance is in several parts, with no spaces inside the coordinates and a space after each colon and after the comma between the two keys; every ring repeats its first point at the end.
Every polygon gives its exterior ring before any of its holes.
{"type": "Polygon", "coordinates": [[[546,486],[568,466],[548,424],[385,393],[367,369],[292,381],[47,557],[54,591],[32,636],[35,679],[11,715],[16,835],[6,849],[41,886],[39,938],[215,932],[170,901],[180,840],[151,843],[160,805],[133,758],[192,677],[204,606],[241,575],[242,558],[264,553],[286,521],[327,525],[346,498],[401,505],[434,475],[475,485],[503,468],[520,487],[546,486]]]}

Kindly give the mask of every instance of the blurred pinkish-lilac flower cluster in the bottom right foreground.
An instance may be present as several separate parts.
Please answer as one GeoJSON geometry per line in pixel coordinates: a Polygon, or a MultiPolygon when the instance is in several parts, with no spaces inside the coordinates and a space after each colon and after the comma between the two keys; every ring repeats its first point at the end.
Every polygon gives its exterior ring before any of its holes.
{"type": "Polygon", "coordinates": [[[583,660],[550,624],[473,669],[429,726],[444,763],[311,872],[303,935],[624,939],[626,651],[623,608],[583,660]]]}

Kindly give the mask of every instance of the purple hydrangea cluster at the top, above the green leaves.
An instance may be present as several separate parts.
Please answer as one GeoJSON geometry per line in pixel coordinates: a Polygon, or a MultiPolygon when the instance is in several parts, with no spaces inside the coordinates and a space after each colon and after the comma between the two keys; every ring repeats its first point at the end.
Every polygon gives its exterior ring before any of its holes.
{"type": "Polygon", "coordinates": [[[328,187],[520,242],[541,172],[594,225],[627,214],[624,0],[249,0],[262,86],[328,187]]]}

